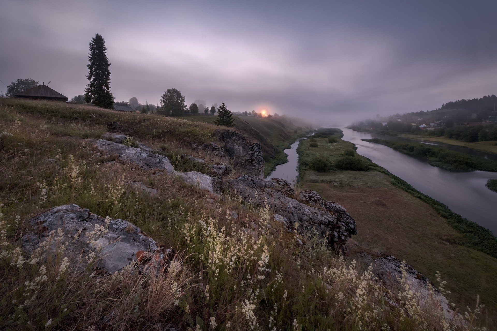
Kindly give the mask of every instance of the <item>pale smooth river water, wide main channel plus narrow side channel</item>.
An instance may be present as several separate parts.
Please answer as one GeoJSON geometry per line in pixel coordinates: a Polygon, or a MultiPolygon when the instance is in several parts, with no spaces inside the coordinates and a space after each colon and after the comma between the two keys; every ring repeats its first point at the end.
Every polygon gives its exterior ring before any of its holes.
{"type": "MultiPolygon", "coordinates": [[[[354,143],[357,153],[402,178],[416,190],[446,204],[452,211],[497,234],[497,193],[485,186],[489,179],[497,179],[496,172],[449,171],[433,167],[425,160],[390,147],[362,141],[373,137],[369,133],[340,129],[344,134],[342,139],[354,143]]],[[[268,178],[283,178],[295,183],[298,176],[298,144],[297,140],[290,149],[285,149],[288,162],[277,166],[268,178]]]]}

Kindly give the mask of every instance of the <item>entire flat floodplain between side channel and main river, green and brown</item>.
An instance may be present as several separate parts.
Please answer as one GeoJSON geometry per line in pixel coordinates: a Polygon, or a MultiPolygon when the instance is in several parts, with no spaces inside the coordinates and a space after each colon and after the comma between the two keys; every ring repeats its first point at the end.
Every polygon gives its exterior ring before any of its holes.
{"type": "Polygon", "coordinates": [[[309,161],[323,157],[333,164],[354,146],[344,140],[318,147],[303,140],[297,149],[300,185],[342,204],[357,222],[350,252],[381,252],[406,260],[432,281],[440,271],[464,307],[480,295],[492,314],[497,311],[497,240],[489,230],[453,213],[442,203],[412,188],[378,165],[367,171],[312,170],[309,161]],[[483,253],[486,252],[486,253],[483,253]]]}

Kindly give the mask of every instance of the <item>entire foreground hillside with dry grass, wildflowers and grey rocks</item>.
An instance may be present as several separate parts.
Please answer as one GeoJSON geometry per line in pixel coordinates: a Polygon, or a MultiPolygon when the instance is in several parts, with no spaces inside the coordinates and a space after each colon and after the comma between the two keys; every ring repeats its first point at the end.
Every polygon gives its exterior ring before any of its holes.
{"type": "Polygon", "coordinates": [[[345,229],[346,219],[348,234],[355,230],[345,209],[294,192],[284,181],[230,172],[233,158],[216,145],[216,129],[0,99],[0,329],[483,325],[474,318],[479,312],[469,312],[467,322],[454,314],[440,292],[400,261],[381,258],[395,262],[391,270],[400,280],[394,287],[362,261],[339,254],[331,243],[348,236],[331,225],[345,229]],[[207,168],[218,175],[206,175],[207,168]],[[210,192],[192,176],[219,187],[210,192]]]}

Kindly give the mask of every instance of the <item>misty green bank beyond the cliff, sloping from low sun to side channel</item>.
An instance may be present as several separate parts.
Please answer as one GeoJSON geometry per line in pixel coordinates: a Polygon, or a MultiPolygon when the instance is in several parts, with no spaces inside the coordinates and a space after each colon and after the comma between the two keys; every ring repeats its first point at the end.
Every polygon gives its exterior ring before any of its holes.
{"type": "MultiPolygon", "coordinates": [[[[217,116],[182,116],[188,121],[214,123],[217,116]]],[[[311,123],[302,119],[278,116],[278,117],[254,117],[234,116],[234,130],[239,131],[248,138],[259,141],[264,156],[264,176],[269,175],[276,166],[288,161],[284,149],[290,148],[298,138],[304,137],[313,129],[311,123]]]]}

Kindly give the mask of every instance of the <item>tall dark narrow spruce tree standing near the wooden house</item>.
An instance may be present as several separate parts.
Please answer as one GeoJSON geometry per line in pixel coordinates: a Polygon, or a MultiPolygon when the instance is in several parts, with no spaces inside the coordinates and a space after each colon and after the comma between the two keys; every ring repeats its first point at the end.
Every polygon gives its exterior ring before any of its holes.
{"type": "Polygon", "coordinates": [[[88,75],[90,81],[85,89],[84,99],[97,107],[112,109],[114,97],[110,93],[109,59],[106,55],[105,41],[98,33],[91,38],[90,53],[88,54],[88,75]]]}

